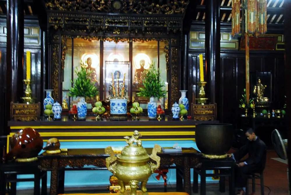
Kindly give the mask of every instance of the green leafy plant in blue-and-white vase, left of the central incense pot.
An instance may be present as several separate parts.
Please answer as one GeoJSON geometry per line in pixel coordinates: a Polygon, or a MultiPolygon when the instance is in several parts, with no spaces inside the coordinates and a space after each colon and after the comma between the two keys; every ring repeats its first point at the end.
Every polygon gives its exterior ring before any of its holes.
{"type": "Polygon", "coordinates": [[[81,69],[75,69],[77,74],[77,79],[71,82],[74,86],[70,89],[69,96],[79,97],[79,102],[77,104],[78,118],[79,120],[86,119],[87,116],[87,103],[85,101],[86,97],[95,97],[98,94],[98,89],[95,86],[95,82],[92,82],[89,75],[91,71],[87,70],[81,62],[81,69]]]}

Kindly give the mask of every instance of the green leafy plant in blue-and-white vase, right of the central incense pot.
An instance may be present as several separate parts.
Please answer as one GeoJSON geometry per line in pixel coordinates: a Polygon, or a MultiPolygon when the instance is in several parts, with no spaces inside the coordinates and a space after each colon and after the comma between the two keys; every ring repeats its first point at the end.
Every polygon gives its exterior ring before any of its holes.
{"type": "Polygon", "coordinates": [[[155,119],[157,117],[157,103],[155,98],[160,99],[166,96],[167,91],[162,88],[165,87],[163,82],[160,80],[160,71],[155,68],[155,63],[150,64],[150,68],[145,70],[145,79],[143,80],[143,87],[139,88],[137,96],[148,97],[148,117],[155,119]]]}

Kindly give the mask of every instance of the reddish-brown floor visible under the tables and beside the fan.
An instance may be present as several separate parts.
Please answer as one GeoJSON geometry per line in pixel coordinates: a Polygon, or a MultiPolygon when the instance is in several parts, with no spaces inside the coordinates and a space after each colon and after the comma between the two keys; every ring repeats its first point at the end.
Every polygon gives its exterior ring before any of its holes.
{"type": "MultiPolygon", "coordinates": [[[[264,171],[264,181],[265,181],[265,195],[287,195],[288,194],[288,180],[287,180],[287,164],[284,162],[280,162],[274,160],[272,158],[278,158],[277,154],[273,150],[269,150],[267,152],[267,162],[266,168],[264,171]]],[[[251,182],[251,181],[250,181],[251,182]]],[[[256,192],[254,194],[261,194],[260,192],[260,181],[256,181],[256,192]]],[[[251,194],[251,184],[250,186],[250,194],[251,194]]],[[[168,191],[175,191],[173,188],[168,187],[168,191]]],[[[159,188],[148,187],[149,192],[161,192],[164,189],[163,186],[159,188]]],[[[226,186],[226,190],[228,186],[226,186]]],[[[66,193],[74,193],[74,192],[88,192],[93,193],[93,189],[65,189],[66,193]]],[[[94,190],[96,193],[96,189],[94,190]]],[[[98,189],[98,192],[108,192],[106,189],[98,189]]],[[[209,184],[206,187],[207,195],[226,195],[228,192],[220,193],[218,184],[209,184]]],[[[200,194],[200,192],[198,193],[200,194]]],[[[19,190],[17,191],[17,195],[33,195],[32,190],[19,190]]]]}

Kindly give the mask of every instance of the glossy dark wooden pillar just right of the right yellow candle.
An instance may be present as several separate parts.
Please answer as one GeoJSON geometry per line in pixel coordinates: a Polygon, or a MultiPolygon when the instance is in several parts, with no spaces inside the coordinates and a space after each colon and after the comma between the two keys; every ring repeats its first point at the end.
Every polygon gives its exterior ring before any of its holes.
{"type": "Polygon", "coordinates": [[[216,103],[220,78],[220,1],[208,0],[205,13],[206,95],[216,103]]]}

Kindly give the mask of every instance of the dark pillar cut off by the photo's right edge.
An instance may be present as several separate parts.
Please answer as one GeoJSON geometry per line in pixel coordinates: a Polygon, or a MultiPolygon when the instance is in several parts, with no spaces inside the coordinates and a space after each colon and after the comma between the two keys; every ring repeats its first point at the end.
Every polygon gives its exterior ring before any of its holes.
{"type": "MultiPolygon", "coordinates": [[[[284,2],[284,24],[285,24],[285,93],[286,93],[286,127],[291,125],[291,1],[284,2]]],[[[288,140],[291,140],[291,131],[288,130],[288,140]]],[[[290,145],[290,143],[289,143],[290,145]]],[[[289,190],[291,190],[291,147],[288,147],[288,168],[289,168],[289,190]]],[[[291,191],[289,191],[290,193],[291,191]]],[[[291,193],[290,193],[291,195],[291,193]]]]}

